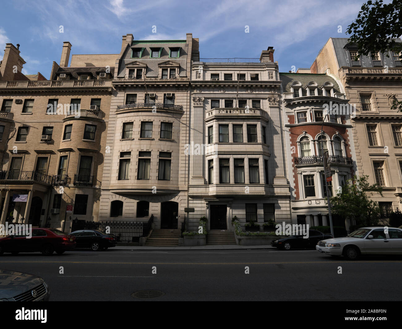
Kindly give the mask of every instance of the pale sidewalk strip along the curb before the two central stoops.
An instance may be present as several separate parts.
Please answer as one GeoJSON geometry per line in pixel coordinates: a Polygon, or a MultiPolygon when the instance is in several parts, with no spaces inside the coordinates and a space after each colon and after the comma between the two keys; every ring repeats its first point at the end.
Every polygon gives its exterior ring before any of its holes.
{"type": "Polygon", "coordinates": [[[235,249],[277,249],[271,245],[203,245],[195,247],[153,247],[153,246],[131,246],[117,245],[110,250],[235,250],[235,249]]]}

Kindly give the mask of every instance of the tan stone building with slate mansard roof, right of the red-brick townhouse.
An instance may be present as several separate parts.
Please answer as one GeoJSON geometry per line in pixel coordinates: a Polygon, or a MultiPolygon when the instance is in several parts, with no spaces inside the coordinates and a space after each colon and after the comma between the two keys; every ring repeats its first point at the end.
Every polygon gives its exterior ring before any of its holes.
{"type": "Polygon", "coordinates": [[[402,113],[391,110],[394,100],[402,99],[401,59],[393,52],[359,55],[348,39],[330,38],[311,66],[312,73],[339,79],[356,105],[351,124],[357,173],[383,187],[384,197],[373,196],[383,213],[402,203],[402,113]]]}

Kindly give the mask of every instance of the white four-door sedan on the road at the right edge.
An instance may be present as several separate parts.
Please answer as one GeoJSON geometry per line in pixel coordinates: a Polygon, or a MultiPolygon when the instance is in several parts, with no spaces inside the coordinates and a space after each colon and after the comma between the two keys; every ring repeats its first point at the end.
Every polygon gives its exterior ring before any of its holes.
{"type": "Polygon", "coordinates": [[[402,229],[362,227],[347,237],[319,241],[316,250],[331,256],[344,255],[349,260],[359,255],[402,255],[402,229]]]}

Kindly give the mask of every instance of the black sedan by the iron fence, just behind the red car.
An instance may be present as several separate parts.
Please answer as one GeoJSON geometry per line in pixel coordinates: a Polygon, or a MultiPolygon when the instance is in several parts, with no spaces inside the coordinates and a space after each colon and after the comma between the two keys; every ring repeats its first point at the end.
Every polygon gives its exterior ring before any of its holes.
{"type": "Polygon", "coordinates": [[[117,245],[115,235],[106,234],[99,230],[79,230],[70,233],[70,235],[76,237],[77,248],[91,248],[93,251],[98,251],[117,245]]]}

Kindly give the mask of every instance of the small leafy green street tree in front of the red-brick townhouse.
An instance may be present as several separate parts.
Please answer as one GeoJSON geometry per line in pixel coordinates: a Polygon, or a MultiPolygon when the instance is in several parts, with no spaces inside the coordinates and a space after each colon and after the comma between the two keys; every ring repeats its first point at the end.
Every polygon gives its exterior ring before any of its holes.
{"type": "Polygon", "coordinates": [[[342,187],[341,193],[330,198],[331,210],[343,218],[354,219],[356,225],[365,225],[371,215],[379,214],[378,202],[371,200],[374,194],[382,195],[382,187],[367,182],[369,176],[354,176],[342,187]]]}

